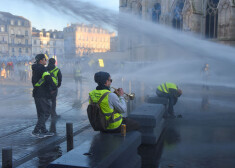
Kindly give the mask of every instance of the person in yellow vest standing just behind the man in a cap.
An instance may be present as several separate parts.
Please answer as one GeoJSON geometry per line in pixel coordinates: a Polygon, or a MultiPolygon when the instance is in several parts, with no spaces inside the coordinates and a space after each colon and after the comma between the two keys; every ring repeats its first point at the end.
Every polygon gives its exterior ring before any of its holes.
{"type": "Polygon", "coordinates": [[[49,64],[47,66],[47,71],[50,73],[53,82],[57,86],[56,92],[51,96],[52,106],[51,106],[51,118],[60,118],[60,115],[56,113],[56,97],[58,94],[58,88],[61,86],[62,73],[58,67],[55,66],[56,60],[54,58],[49,59],[49,64]]]}

